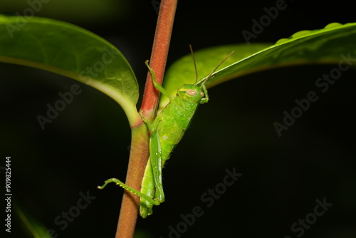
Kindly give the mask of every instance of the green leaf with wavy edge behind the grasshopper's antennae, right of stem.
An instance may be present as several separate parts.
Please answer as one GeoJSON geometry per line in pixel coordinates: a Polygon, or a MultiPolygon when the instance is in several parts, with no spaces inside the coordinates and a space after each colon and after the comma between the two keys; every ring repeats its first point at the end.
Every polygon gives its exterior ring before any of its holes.
{"type": "MultiPolygon", "coordinates": [[[[332,23],[320,30],[298,31],[289,38],[277,41],[273,46],[271,44],[217,46],[197,51],[194,56],[201,82],[232,50],[235,51],[220,66],[221,69],[206,81],[206,87],[211,88],[248,73],[271,68],[310,63],[340,63],[345,61],[345,58],[350,58],[353,62],[356,61],[356,58],[352,58],[356,55],[355,43],[355,23],[345,25],[332,23]]],[[[173,63],[167,70],[164,88],[174,95],[182,84],[194,83],[194,78],[192,56],[187,55],[173,63]]],[[[164,108],[168,101],[162,96],[159,108],[164,108]]]]}

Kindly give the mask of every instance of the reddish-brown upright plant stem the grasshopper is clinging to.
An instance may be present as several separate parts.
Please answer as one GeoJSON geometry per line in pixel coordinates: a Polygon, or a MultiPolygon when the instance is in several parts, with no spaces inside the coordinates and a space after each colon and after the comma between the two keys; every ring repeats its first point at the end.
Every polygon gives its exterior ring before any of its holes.
{"type": "MultiPolygon", "coordinates": [[[[172,35],[174,15],[178,0],[162,0],[152,46],[150,66],[155,71],[156,80],[162,84],[166,66],[169,42],[172,35]]],[[[155,115],[159,92],[152,84],[150,72],[147,73],[145,92],[142,99],[141,111],[147,119],[155,115]]],[[[126,185],[141,190],[142,177],[145,172],[149,153],[149,132],[144,123],[132,128],[132,143],[130,160],[127,169],[126,185]]],[[[120,217],[117,224],[116,238],[131,238],[135,232],[140,198],[125,190],[122,197],[120,217]]]]}

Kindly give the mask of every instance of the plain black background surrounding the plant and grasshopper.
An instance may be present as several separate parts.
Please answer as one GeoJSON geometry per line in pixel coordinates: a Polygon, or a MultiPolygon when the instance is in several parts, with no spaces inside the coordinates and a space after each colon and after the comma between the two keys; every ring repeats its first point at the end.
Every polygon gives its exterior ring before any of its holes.
{"type": "MultiPolygon", "coordinates": [[[[352,1],[319,3],[286,1],[287,8],[251,42],[276,42],[330,22],[356,21],[352,1]]],[[[266,14],[264,7],[275,5],[276,1],[179,1],[167,65],[189,53],[189,43],[196,51],[244,43],[241,31],[251,31],[251,20],[266,14]]],[[[26,8],[26,1],[0,3],[2,14],[21,14],[26,8]]],[[[142,93],[144,62],[150,58],[157,20],[152,1],[51,0],[36,16],[77,24],[113,43],[132,64],[142,93]]],[[[303,237],[356,237],[356,72],[342,73],[281,137],[273,128],[283,120],[283,111],[290,112],[294,100],[315,90],[316,79],[332,68],[283,68],[211,88],[211,100],[199,108],[164,168],[166,202],[154,207],[152,216],[138,219],[137,237],[169,237],[169,226],[176,227],[182,222],[180,215],[192,213],[196,206],[204,214],[180,237],[301,237],[290,227],[310,217],[315,200],[324,197],[333,206],[305,229],[303,237]],[[201,195],[234,167],[243,175],[206,207],[201,195]]],[[[0,166],[11,156],[13,202],[55,229],[58,237],[114,237],[122,189],[96,186],[109,177],[125,178],[130,128],[120,106],[98,90],[53,73],[5,63],[0,73],[0,166]],[[58,93],[67,92],[73,83],[83,92],[41,130],[36,116],[44,115],[46,104],[55,103],[58,93]],[[95,200],[62,231],[55,218],[77,204],[80,192],[88,191],[95,200]]],[[[0,171],[4,181],[4,170],[0,171]]],[[[23,230],[14,218],[7,235],[26,237],[23,230]]]]}

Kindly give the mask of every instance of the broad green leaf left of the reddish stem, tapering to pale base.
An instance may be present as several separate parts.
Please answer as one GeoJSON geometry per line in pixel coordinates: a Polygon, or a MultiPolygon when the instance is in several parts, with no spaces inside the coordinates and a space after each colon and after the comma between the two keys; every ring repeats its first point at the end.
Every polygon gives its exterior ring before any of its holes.
{"type": "Polygon", "coordinates": [[[0,61],[41,68],[86,83],[121,105],[130,125],[138,84],[122,53],[100,36],[62,21],[0,16],[0,61]]]}

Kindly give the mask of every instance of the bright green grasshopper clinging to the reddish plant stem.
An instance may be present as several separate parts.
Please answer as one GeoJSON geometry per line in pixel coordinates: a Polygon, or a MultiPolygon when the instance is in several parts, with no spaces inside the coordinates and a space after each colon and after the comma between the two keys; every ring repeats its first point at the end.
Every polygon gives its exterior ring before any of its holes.
{"type": "Polygon", "coordinates": [[[194,61],[194,68],[196,72],[195,84],[184,84],[177,90],[177,95],[172,97],[157,83],[155,78],[155,72],[149,66],[148,61],[145,62],[147,68],[152,75],[152,83],[159,90],[160,93],[169,98],[169,103],[166,108],[162,110],[153,123],[147,121],[141,114],[142,120],[147,124],[151,132],[150,137],[150,157],[147,161],[145,168],[145,174],[142,179],[141,191],[132,189],[125,185],[125,183],[111,178],[105,181],[103,186],[98,186],[99,189],[103,189],[108,183],[115,182],[125,190],[128,190],[140,197],[140,214],[145,218],[152,214],[153,205],[159,205],[164,202],[164,192],[162,186],[162,167],[164,162],[169,159],[169,156],[173,148],[182,139],[185,131],[189,128],[193,115],[200,104],[207,103],[209,100],[208,91],[206,90],[205,83],[211,78],[212,74],[217,68],[224,63],[233,52],[229,54],[216,68],[206,77],[206,79],[198,86],[198,73],[197,66],[194,60],[194,54],[192,46],[189,46],[192,52],[194,61]]]}

